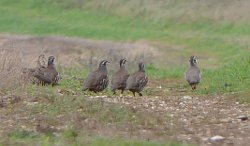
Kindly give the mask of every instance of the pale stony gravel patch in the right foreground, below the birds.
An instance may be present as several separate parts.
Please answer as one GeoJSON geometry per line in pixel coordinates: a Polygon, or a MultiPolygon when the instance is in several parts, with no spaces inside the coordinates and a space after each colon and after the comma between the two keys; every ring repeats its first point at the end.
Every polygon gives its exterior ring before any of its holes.
{"type": "MultiPolygon", "coordinates": [[[[171,139],[199,145],[248,145],[250,107],[228,97],[89,97],[129,106],[136,112],[167,114],[162,132],[174,133],[171,139]],[[119,101],[118,101],[119,100],[119,101]]],[[[157,127],[157,125],[155,125],[157,127]]],[[[142,130],[143,131],[143,130],[142,130]]],[[[146,131],[144,131],[146,132],[146,131]]],[[[143,132],[141,133],[143,135],[143,132]]]]}

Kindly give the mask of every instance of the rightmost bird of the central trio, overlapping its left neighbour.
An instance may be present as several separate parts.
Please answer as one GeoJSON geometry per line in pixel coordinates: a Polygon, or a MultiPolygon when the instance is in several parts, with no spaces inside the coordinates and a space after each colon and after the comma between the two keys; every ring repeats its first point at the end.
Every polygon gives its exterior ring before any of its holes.
{"type": "Polygon", "coordinates": [[[135,96],[135,92],[142,96],[141,91],[148,83],[148,77],[146,75],[144,64],[139,63],[139,70],[131,74],[127,80],[126,90],[129,90],[135,96]]]}

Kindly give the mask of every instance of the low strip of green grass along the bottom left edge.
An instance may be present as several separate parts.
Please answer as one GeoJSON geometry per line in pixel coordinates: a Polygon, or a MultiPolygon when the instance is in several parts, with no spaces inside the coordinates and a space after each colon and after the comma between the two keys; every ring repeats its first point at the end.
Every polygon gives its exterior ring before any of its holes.
{"type": "MultiPolygon", "coordinates": [[[[74,134],[72,131],[65,131],[63,135],[48,136],[45,134],[38,134],[29,131],[12,131],[9,133],[8,139],[11,140],[3,142],[2,145],[89,145],[89,146],[188,146],[177,142],[155,142],[155,141],[140,141],[124,138],[106,138],[106,137],[88,137],[83,136],[78,138],[79,135],[74,134]],[[27,143],[28,142],[28,143],[27,143]]],[[[1,144],[0,144],[1,145],[1,144]]]]}

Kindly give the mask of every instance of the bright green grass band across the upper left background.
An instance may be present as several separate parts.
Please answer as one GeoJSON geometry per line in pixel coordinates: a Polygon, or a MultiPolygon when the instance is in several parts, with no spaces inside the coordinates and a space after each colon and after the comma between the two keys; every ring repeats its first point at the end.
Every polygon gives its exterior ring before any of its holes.
{"type": "Polygon", "coordinates": [[[4,4],[0,12],[2,32],[36,35],[69,35],[95,39],[139,39],[156,34],[150,26],[129,19],[87,10],[67,10],[36,1],[4,4]],[[62,13],[63,12],[63,13],[62,13]],[[15,27],[17,26],[18,27],[15,27]],[[142,27],[142,28],[141,28],[142,27]],[[148,31],[144,31],[148,29],[148,31]]]}

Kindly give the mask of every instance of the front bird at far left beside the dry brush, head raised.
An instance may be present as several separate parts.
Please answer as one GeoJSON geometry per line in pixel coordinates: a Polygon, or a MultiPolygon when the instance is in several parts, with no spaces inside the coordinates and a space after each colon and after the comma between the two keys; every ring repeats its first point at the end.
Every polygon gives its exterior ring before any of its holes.
{"type": "Polygon", "coordinates": [[[45,84],[56,85],[58,84],[58,81],[61,79],[60,75],[56,70],[54,60],[55,57],[50,56],[48,59],[47,67],[40,67],[34,72],[34,77],[36,77],[43,85],[45,84]]]}

